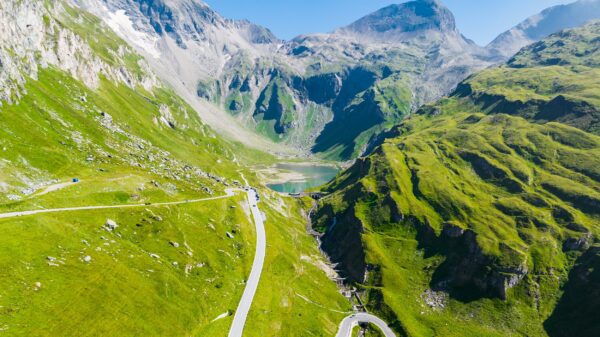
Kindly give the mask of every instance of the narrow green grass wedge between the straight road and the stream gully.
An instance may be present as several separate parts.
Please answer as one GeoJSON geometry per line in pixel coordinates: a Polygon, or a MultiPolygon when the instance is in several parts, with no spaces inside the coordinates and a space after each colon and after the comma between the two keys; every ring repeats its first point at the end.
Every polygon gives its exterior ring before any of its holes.
{"type": "Polygon", "coordinates": [[[306,220],[298,217],[299,205],[264,195],[273,205],[266,210],[268,249],[245,336],[333,336],[350,304],[325,276],[315,240],[306,235],[306,220]]]}

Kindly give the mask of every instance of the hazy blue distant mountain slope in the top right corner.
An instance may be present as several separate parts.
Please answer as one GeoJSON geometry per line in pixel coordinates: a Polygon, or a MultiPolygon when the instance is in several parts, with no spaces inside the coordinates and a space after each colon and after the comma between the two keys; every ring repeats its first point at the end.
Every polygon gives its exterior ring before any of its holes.
{"type": "Polygon", "coordinates": [[[508,58],[521,48],[564,29],[582,26],[600,19],[600,1],[579,0],[550,7],[521,22],[492,41],[487,48],[508,58]]]}

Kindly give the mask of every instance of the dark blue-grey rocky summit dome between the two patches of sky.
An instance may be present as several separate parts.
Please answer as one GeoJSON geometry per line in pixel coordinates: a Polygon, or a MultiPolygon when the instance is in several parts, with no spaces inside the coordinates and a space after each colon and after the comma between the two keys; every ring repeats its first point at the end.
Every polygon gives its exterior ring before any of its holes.
{"type": "Polygon", "coordinates": [[[355,35],[402,37],[415,33],[455,32],[454,15],[438,0],[416,0],[384,7],[339,30],[355,35]]]}

